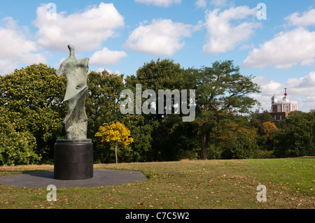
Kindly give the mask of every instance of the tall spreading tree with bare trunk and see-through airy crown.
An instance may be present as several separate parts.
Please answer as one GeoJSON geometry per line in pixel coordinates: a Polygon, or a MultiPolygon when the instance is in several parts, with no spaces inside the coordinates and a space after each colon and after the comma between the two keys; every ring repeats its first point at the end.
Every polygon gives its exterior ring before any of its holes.
{"type": "Polygon", "coordinates": [[[192,70],[190,75],[194,78],[191,87],[196,89],[195,122],[200,129],[201,159],[207,159],[211,131],[221,120],[237,113],[248,113],[258,103],[248,94],[259,92],[260,87],[253,83],[251,75],[241,75],[239,66],[234,66],[230,60],[192,70]]]}

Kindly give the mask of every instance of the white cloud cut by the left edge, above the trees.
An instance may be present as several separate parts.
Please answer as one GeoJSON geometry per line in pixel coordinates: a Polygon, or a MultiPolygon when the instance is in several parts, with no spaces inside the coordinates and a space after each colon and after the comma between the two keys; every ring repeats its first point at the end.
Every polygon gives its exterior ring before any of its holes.
{"type": "Polygon", "coordinates": [[[1,20],[0,73],[10,73],[20,64],[46,63],[44,52],[38,52],[36,42],[27,38],[27,29],[19,27],[12,17],[1,20]]]}

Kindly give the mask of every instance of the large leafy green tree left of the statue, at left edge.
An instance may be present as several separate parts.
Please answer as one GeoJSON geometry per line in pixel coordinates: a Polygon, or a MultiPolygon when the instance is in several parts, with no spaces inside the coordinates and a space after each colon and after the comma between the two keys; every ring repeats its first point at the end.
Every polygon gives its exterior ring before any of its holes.
{"type": "Polygon", "coordinates": [[[55,69],[33,64],[0,76],[2,113],[18,133],[28,131],[36,138],[36,154],[53,158],[56,138],[64,137],[62,121],[66,103],[62,101],[66,78],[57,78],[55,69]]]}

